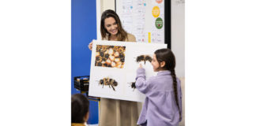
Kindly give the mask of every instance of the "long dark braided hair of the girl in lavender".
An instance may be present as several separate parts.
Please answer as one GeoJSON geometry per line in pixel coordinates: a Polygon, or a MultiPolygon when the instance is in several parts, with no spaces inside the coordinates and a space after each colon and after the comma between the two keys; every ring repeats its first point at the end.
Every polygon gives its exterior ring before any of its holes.
{"type": "MultiPolygon", "coordinates": [[[[164,67],[160,68],[160,69],[171,71],[171,77],[172,77],[172,80],[173,80],[173,89],[175,91],[175,101],[176,101],[176,104],[179,108],[177,80],[176,80],[176,75],[175,75],[175,65],[176,65],[175,55],[172,53],[172,51],[170,49],[156,50],[154,54],[156,54],[156,60],[159,62],[159,64],[162,61],[165,62],[164,67]]],[[[181,118],[180,108],[179,108],[179,118],[181,118]]]]}

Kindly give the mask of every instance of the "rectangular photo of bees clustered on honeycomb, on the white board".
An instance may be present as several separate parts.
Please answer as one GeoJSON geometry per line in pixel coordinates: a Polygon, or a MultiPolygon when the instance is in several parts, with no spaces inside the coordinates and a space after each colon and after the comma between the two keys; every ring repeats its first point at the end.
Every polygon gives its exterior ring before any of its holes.
{"type": "Polygon", "coordinates": [[[95,66],[122,69],[125,64],[126,46],[96,46],[95,66]]]}

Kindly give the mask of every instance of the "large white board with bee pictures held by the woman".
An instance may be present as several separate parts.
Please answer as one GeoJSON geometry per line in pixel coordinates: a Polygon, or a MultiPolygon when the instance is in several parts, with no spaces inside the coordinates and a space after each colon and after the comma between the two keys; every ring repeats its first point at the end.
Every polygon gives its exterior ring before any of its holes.
{"type": "Polygon", "coordinates": [[[156,75],[149,59],[162,48],[167,45],[94,40],[88,95],[144,102],[145,95],[131,84],[140,64],[145,68],[146,78],[156,75]]]}

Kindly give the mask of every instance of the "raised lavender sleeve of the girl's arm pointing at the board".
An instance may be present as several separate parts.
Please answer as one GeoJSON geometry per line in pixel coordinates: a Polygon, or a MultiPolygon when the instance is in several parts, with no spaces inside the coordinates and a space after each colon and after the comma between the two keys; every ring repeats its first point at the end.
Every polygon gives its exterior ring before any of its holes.
{"type": "Polygon", "coordinates": [[[136,83],[135,86],[138,91],[146,94],[149,92],[149,83],[145,80],[145,69],[137,69],[136,83]]]}

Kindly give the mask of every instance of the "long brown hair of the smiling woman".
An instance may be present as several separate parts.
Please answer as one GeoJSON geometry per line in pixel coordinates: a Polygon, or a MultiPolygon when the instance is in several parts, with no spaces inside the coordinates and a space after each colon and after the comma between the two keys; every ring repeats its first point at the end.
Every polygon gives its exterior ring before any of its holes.
{"type": "MultiPolygon", "coordinates": [[[[102,13],[101,20],[100,20],[100,33],[102,39],[106,38],[108,33],[107,29],[105,28],[105,19],[108,17],[113,17],[116,21],[116,24],[118,24],[118,41],[124,41],[127,38],[127,32],[122,28],[121,21],[119,19],[119,16],[115,13],[114,10],[107,9],[102,13]]],[[[109,36],[108,36],[109,37],[109,36]]]]}

